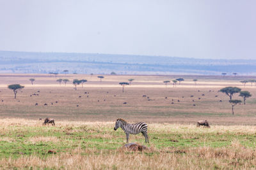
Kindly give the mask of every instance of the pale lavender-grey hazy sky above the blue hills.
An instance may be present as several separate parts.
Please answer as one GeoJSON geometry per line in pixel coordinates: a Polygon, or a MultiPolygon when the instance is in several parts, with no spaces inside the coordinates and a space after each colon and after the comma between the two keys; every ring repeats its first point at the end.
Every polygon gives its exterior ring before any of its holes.
{"type": "Polygon", "coordinates": [[[0,50],[256,59],[255,8],[255,0],[0,0],[0,50]]]}

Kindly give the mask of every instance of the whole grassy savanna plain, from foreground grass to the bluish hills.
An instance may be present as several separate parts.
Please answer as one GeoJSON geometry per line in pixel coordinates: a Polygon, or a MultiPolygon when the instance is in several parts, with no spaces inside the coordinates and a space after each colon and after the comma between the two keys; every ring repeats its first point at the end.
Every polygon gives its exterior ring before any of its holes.
{"type": "Polygon", "coordinates": [[[97,76],[0,74],[0,169],[256,168],[256,87],[239,82],[255,77],[97,76]],[[76,78],[88,81],[75,90],[76,78]],[[129,78],[122,92],[119,83],[129,78]],[[7,86],[16,83],[24,89],[14,99],[7,86]],[[234,115],[219,91],[228,86],[252,94],[234,106],[234,115]],[[46,117],[56,125],[42,125],[46,117]],[[148,124],[150,143],[142,134],[129,139],[147,150],[124,148],[124,131],[113,130],[117,118],[148,124]],[[205,119],[211,128],[196,127],[205,119]]]}

